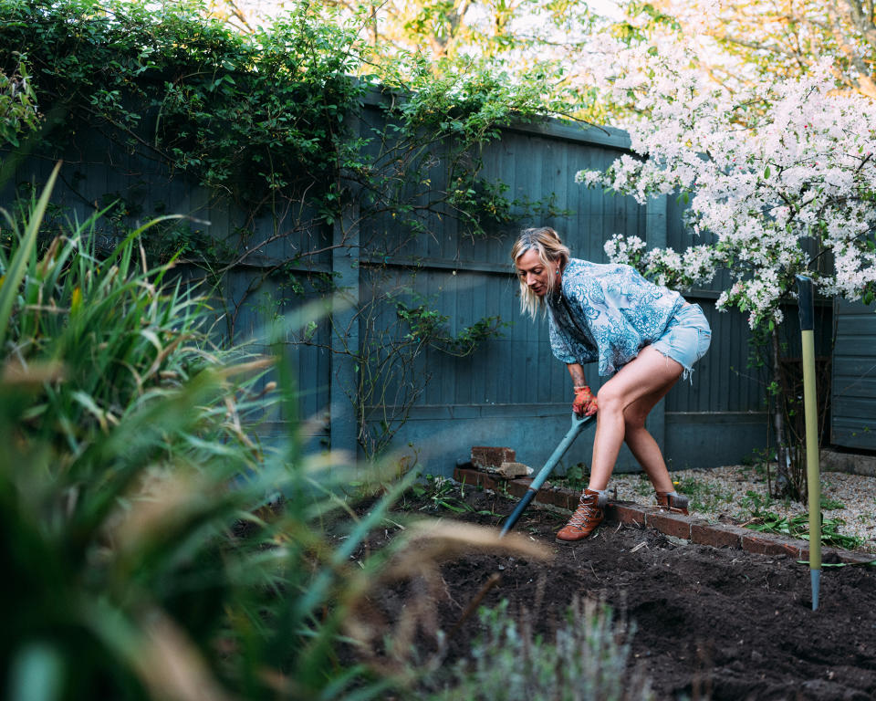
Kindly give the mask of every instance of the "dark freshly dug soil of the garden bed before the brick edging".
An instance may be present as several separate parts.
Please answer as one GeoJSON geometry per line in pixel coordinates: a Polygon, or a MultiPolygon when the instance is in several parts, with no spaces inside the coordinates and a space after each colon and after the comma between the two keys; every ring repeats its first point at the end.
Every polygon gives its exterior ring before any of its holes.
{"type": "MultiPolygon", "coordinates": [[[[455,513],[435,501],[408,499],[403,508],[495,526],[515,504],[474,489],[444,499],[474,511],[455,513]]],[[[876,568],[825,567],[813,612],[808,565],[796,560],[671,541],[617,523],[578,545],[560,545],[554,535],[566,518],[530,507],[516,525],[554,553],[548,562],[482,551],[443,564],[443,591],[429,595],[437,625],[451,632],[448,662],[466,654],[480,632],[476,615],[459,622],[498,573],[481,604],[508,600],[509,612],[529,612],[548,640],[574,597],[609,603],[634,624],[630,664],[643,665],[659,699],[876,697],[876,568]]],[[[401,601],[397,588],[381,595],[387,609],[401,601]]]]}

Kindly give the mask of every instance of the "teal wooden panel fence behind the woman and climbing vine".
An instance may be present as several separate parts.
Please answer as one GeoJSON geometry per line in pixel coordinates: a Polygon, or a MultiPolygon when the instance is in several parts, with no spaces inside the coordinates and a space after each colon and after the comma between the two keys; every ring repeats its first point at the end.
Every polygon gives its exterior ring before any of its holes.
{"type": "MultiPolygon", "coordinates": [[[[386,131],[380,100],[370,99],[358,117],[356,129],[363,136],[386,131]]],[[[375,139],[366,148],[380,158],[384,147],[375,139]]],[[[178,174],[169,179],[148,152],[132,152],[98,134],[70,145],[55,201],[65,212],[84,216],[118,196],[129,205],[126,222],[167,212],[187,214],[193,217],[187,241],[231,246],[227,265],[212,276],[219,282],[216,309],[222,312],[217,312],[217,329],[235,342],[264,344],[271,319],[318,298],[329,278],[340,289],[346,303],[331,317],[307,330],[289,330],[285,337],[287,359],[300,384],[299,416],[266,416],[261,426],[266,440],[287,430],[290,419],[307,418],[312,419],[308,437],[314,448],[330,445],[361,455],[360,418],[379,427],[390,416],[398,428],[391,448],[416,452],[433,474],[449,474],[457,461],[467,459],[472,445],[507,445],[522,462],[539,466],[568,429],[571,388],[565,366],[550,354],[546,321],[533,322],[519,313],[509,249],[516,232],[527,225],[554,226],[574,256],[594,261],[605,259],[602,246],[618,233],[639,235],[650,246],[687,246],[682,205],[673,198],[642,207],[631,198],[574,183],[579,169],[606,167],[628,147],[628,137],[617,130],[585,130],[555,121],[507,128],[479,154],[483,177],[506,183],[512,199],[549,199],[552,213],[493,222],[485,227],[486,235],[476,237],[454,217],[434,212],[423,214],[422,233],[412,236],[391,214],[366,204],[366,194],[357,190],[350,191],[342,216],[330,225],[318,223],[316,213],[301,204],[254,217],[178,174]],[[302,251],[312,255],[302,257],[302,251]],[[387,334],[400,332],[396,307],[384,299],[388,294],[409,304],[427,301],[447,317],[454,333],[485,317],[501,317],[507,326],[464,358],[423,349],[391,373],[381,392],[357,405],[350,401],[363,372],[356,351],[368,343],[380,347],[387,334]],[[369,308],[374,299],[383,302],[369,308]],[[368,313],[362,311],[366,308],[368,313]],[[404,392],[414,385],[416,401],[406,406],[398,398],[409,396],[404,392]]],[[[445,182],[442,145],[435,144],[429,157],[434,163],[430,187],[451,187],[445,182]]],[[[15,183],[5,185],[5,204],[14,186],[40,182],[50,167],[33,158],[21,162],[15,183]]],[[[186,256],[196,261],[200,253],[194,246],[186,256]]],[[[203,267],[189,271],[192,277],[202,274],[203,267]]],[[[699,303],[710,320],[712,349],[693,382],[680,382],[652,413],[649,425],[673,468],[735,463],[767,445],[764,378],[748,367],[746,319],[715,311],[717,288],[685,296],[699,303]]],[[[788,317],[793,326],[794,315],[788,317]]],[[[788,338],[793,336],[789,327],[788,338]]],[[[826,338],[820,352],[829,343],[826,338]]],[[[596,389],[595,368],[588,370],[596,389]]],[[[589,461],[591,440],[587,434],[579,438],[567,465],[589,461]]],[[[635,469],[631,455],[621,456],[619,469],[635,469]]]]}

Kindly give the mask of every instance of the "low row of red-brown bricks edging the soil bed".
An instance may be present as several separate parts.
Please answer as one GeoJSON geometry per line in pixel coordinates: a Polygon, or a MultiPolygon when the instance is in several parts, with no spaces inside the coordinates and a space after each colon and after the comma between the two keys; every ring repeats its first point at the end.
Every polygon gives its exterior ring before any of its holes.
{"type": "MultiPolygon", "coordinates": [[[[454,470],[454,479],[473,487],[504,491],[509,496],[517,498],[527,493],[532,482],[531,477],[498,479],[468,467],[457,467],[454,470]]],[[[578,499],[579,492],[573,489],[542,487],[533,501],[537,504],[574,511],[578,506],[578,499]]],[[[647,526],[664,535],[690,540],[700,545],[710,545],[713,548],[734,548],[758,555],[787,555],[795,560],[809,558],[807,540],[758,533],[732,524],[709,523],[704,518],[672,514],[658,507],[644,507],[629,501],[609,501],[605,518],[610,522],[647,526]]],[[[822,548],[821,559],[826,562],[860,564],[876,560],[876,555],[839,548],[822,548]]]]}

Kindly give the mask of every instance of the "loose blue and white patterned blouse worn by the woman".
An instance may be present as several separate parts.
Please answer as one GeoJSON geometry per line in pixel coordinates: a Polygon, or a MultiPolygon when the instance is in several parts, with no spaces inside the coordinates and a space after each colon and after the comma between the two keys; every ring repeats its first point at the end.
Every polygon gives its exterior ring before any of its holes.
{"type": "Polygon", "coordinates": [[[613,375],[659,339],[683,305],[678,292],[631,266],[570,258],[561,289],[547,299],[551,351],[566,363],[599,361],[600,376],[613,375]]]}

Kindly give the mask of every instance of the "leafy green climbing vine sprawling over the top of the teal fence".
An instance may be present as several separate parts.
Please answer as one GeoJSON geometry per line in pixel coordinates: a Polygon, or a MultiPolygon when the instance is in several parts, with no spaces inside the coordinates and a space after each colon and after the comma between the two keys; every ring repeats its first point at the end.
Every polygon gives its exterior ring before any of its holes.
{"type": "MultiPolygon", "coordinates": [[[[285,293],[330,294],[333,277],[318,261],[332,248],[354,243],[389,260],[433,235],[438,222],[455,220],[476,238],[516,219],[562,214],[552,198],[512,199],[505,183],[482,174],[485,144],[502,126],[541,116],[545,77],[537,72],[511,80],[472,67],[436,78],[412,57],[399,58],[403,67],[381,63],[377,75],[359,27],[308,2],[293,3],[285,18],[250,35],[210,18],[197,1],[0,0],[0,13],[0,74],[21,76],[27,67],[34,92],[28,115],[31,121],[40,115],[43,124],[36,136],[16,131],[14,157],[65,155],[69,162],[98,133],[121,152],[157,162],[167,179],[197,183],[211,206],[241,213],[222,239],[190,219],[153,227],[144,242],[158,259],[182,252],[216,288],[231,271],[252,271],[234,298],[219,296],[231,340],[239,310],[253,306],[272,280],[281,278],[285,293]],[[381,113],[379,123],[363,118],[367,100],[381,113]],[[352,220],[344,216],[351,201],[352,220]],[[287,244],[283,256],[273,253],[277,242],[287,244]]],[[[67,184],[76,190],[75,179],[67,184]]],[[[103,225],[110,230],[167,212],[166,203],[148,201],[135,187],[92,200],[96,209],[109,205],[103,225]]],[[[411,309],[419,319],[430,310],[398,307],[403,291],[363,294],[359,319],[380,317],[389,304],[400,314],[404,341],[411,309]]],[[[461,355],[500,333],[501,320],[476,321],[458,340],[440,326],[430,337],[433,348],[461,355]]],[[[311,333],[297,342],[318,340],[311,333]]],[[[370,385],[350,397],[358,406],[363,395],[382,396],[381,368],[411,366],[422,346],[401,342],[391,366],[369,348],[355,359],[370,368],[363,371],[370,385]]],[[[427,381],[421,373],[402,382],[393,400],[401,408],[381,435],[394,433],[427,381]]],[[[360,445],[370,454],[385,441],[367,435],[359,414],[360,445]]]]}

